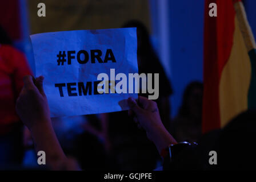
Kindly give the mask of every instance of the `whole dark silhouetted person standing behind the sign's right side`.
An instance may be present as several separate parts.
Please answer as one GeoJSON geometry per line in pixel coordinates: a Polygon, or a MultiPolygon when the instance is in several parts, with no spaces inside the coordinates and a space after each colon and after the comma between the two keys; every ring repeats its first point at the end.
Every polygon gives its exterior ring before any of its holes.
{"type": "MultiPolygon", "coordinates": [[[[137,20],[131,20],[123,27],[137,27],[137,59],[140,73],[159,73],[159,105],[163,125],[170,125],[169,96],[173,93],[163,67],[150,43],[147,28],[137,20]]],[[[154,85],[153,85],[154,86],[154,85]]],[[[149,93],[139,96],[148,97],[149,93]]],[[[106,114],[109,123],[111,142],[110,160],[113,169],[152,170],[160,160],[154,144],[146,138],[144,130],[138,129],[133,118],[127,117],[127,111],[106,114]]],[[[107,123],[107,122],[106,122],[107,123]]]]}

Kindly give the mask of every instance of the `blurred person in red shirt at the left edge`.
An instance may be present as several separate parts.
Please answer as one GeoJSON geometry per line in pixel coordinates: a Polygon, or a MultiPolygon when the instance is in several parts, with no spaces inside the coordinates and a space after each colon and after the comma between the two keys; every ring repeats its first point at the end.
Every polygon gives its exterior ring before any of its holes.
{"type": "Polygon", "coordinates": [[[31,75],[25,56],[11,46],[11,39],[0,26],[0,164],[21,164],[22,123],[15,102],[22,89],[22,78],[31,75]]]}

